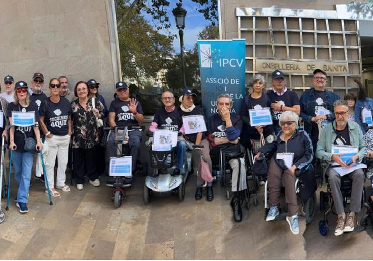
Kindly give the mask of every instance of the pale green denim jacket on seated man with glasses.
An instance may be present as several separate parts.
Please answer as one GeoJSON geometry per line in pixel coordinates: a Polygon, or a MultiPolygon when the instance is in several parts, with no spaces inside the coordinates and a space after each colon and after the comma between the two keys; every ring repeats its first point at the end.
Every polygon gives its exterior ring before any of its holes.
{"type": "MultiPolygon", "coordinates": [[[[350,133],[350,143],[354,147],[358,147],[359,163],[363,160],[366,154],[366,144],[363,140],[363,133],[361,133],[359,125],[356,122],[347,121],[348,133],[350,133]]],[[[316,158],[320,158],[326,161],[332,161],[332,144],[334,143],[337,134],[333,130],[335,127],[335,121],[326,124],[321,130],[320,139],[317,141],[316,158]]]]}

